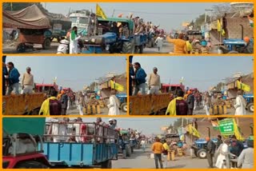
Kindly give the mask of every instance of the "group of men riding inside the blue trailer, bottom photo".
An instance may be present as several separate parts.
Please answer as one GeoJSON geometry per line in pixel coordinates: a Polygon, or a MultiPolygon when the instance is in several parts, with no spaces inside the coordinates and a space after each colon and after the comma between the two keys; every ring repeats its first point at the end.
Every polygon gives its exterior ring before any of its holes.
{"type": "Polygon", "coordinates": [[[73,121],[69,117],[52,117],[47,121],[50,125],[47,129],[47,140],[54,142],[77,142],[86,143],[92,141],[103,141],[108,135],[108,131],[104,128],[117,129],[117,120],[109,119],[109,124],[102,121],[101,117],[97,117],[94,125],[82,121],[82,117],[78,117],[73,121]],[[95,129],[96,128],[96,129],[95,129]],[[94,134],[98,135],[96,140],[94,134]]]}

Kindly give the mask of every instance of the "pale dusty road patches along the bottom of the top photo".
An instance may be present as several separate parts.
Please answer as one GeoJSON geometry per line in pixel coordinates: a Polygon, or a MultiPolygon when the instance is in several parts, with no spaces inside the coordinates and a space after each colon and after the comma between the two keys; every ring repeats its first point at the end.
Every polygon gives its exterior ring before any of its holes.
{"type": "MultiPolygon", "coordinates": [[[[56,54],[57,49],[58,49],[58,42],[52,42],[50,46],[50,50],[42,50],[41,45],[34,45],[34,50],[26,50],[26,54],[56,54]]],[[[161,53],[158,53],[157,47],[154,47],[154,48],[146,47],[143,50],[143,54],[169,54],[169,52],[172,50],[173,50],[173,45],[168,42],[164,42],[161,53]]],[[[3,46],[3,53],[18,54],[15,46],[8,46],[8,45],[3,46]]]]}

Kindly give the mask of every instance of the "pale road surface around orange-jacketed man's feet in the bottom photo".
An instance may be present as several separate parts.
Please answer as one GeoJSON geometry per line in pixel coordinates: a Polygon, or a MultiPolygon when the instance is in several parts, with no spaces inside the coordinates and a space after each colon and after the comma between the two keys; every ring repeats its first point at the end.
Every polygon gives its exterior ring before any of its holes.
{"type": "MultiPolygon", "coordinates": [[[[118,161],[112,161],[112,168],[114,169],[154,169],[154,159],[150,159],[150,148],[143,153],[141,149],[135,149],[131,157],[122,159],[122,155],[118,161]]],[[[174,161],[169,161],[167,169],[206,169],[208,163],[206,159],[186,157],[176,157],[174,161]]]]}

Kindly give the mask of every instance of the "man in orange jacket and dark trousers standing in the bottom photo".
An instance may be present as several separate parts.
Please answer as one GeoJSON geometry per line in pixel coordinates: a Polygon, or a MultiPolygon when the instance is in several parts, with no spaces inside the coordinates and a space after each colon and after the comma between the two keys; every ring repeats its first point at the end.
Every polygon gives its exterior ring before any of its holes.
{"type": "Polygon", "coordinates": [[[154,163],[155,163],[155,168],[158,169],[158,161],[160,163],[161,169],[162,167],[162,152],[164,151],[162,143],[160,142],[160,138],[156,137],[155,142],[152,145],[152,151],[154,152],[154,163]]]}

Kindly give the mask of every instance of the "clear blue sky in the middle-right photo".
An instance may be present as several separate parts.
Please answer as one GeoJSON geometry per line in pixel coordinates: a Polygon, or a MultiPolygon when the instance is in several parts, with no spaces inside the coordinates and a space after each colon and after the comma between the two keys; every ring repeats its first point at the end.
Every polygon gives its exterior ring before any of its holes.
{"type": "Polygon", "coordinates": [[[139,62],[149,75],[153,68],[158,68],[162,83],[178,84],[182,77],[183,85],[198,88],[201,91],[210,89],[223,79],[233,77],[235,73],[250,74],[253,72],[252,57],[159,57],[134,56],[133,62],[139,62]]]}

